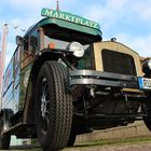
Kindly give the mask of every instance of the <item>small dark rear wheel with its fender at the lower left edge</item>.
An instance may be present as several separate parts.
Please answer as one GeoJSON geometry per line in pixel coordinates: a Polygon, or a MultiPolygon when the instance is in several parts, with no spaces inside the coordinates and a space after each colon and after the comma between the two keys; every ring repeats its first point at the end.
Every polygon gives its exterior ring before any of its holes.
{"type": "Polygon", "coordinates": [[[3,110],[0,116],[0,150],[8,150],[10,148],[11,135],[3,133],[5,128],[9,128],[10,110],[3,110]]]}

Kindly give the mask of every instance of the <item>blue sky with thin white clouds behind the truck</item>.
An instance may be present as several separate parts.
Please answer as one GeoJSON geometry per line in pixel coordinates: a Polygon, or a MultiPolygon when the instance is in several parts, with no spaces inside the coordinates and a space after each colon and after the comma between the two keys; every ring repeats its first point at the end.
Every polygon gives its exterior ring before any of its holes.
{"type": "MultiPolygon", "coordinates": [[[[98,22],[104,40],[115,37],[140,56],[151,56],[151,0],[59,0],[59,5],[61,11],[98,22]]],[[[6,64],[15,51],[15,36],[42,18],[42,8],[56,9],[56,0],[0,1],[0,33],[9,24],[6,64]]]]}

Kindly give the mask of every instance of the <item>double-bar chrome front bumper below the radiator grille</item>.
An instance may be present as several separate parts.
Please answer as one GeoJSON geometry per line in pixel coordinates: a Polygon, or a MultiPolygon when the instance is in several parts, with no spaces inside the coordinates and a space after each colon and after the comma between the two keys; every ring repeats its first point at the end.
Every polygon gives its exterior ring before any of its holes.
{"type": "Polygon", "coordinates": [[[118,73],[101,72],[95,70],[69,71],[69,86],[97,85],[105,87],[138,88],[138,78],[118,73]]]}

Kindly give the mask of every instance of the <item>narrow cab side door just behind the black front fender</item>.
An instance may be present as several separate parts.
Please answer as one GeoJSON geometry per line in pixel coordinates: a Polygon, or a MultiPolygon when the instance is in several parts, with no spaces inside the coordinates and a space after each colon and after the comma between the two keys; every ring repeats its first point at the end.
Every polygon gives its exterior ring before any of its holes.
{"type": "Polygon", "coordinates": [[[24,109],[30,71],[37,52],[37,45],[38,45],[37,39],[38,39],[37,32],[36,31],[31,32],[30,35],[24,38],[24,44],[23,46],[20,46],[20,64],[18,64],[19,82],[18,82],[18,91],[17,91],[19,93],[18,95],[19,99],[18,99],[18,104],[16,104],[18,106],[17,107],[18,110],[24,109]]]}

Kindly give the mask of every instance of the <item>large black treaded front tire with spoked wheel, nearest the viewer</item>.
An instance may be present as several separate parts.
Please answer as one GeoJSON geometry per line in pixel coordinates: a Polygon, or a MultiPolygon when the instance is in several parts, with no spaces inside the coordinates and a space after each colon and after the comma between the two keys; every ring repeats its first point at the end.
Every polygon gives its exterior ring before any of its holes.
{"type": "Polygon", "coordinates": [[[40,69],[36,87],[36,127],[45,151],[67,146],[72,125],[72,98],[67,93],[68,72],[57,61],[46,61],[40,69]]]}

